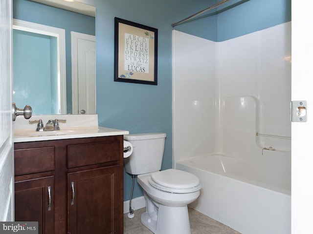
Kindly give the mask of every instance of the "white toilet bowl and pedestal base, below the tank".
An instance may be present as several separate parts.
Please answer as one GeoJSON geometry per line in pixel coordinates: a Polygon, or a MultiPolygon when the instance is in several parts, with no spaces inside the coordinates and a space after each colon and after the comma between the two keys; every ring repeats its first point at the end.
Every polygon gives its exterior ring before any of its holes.
{"type": "MultiPolygon", "coordinates": [[[[167,171],[170,171],[173,176],[186,173],[185,177],[188,177],[189,174],[175,169],[168,169],[159,173],[166,173],[167,171]]],[[[146,200],[146,212],[141,215],[141,223],[155,234],[190,234],[187,205],[198,198],[201,184],[198,183],[194,187],[187,188],[187,183],[180,182],[177,185],[185,185],[185,188],[178,188],[179,186],[170,188],[153,181],[152,176],[156,173],[137,177],[137,182],[142,187],[146,200]],[[156,184],[153,186],[152,183],[156,184]],[[171,190],[176,193],[169,192],[171,190]]],[[[193,177],[194,175],[190,174],[189,176],[193,177]]]]}

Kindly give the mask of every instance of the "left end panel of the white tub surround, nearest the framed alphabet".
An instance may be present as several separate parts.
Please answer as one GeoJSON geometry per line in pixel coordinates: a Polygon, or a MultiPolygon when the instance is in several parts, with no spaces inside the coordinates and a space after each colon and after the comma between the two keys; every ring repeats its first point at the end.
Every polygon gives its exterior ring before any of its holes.
{"type": "Polygon", "coordinates": [[[174,161],[215,146],[216,44],[173,31],[174,161]]]}

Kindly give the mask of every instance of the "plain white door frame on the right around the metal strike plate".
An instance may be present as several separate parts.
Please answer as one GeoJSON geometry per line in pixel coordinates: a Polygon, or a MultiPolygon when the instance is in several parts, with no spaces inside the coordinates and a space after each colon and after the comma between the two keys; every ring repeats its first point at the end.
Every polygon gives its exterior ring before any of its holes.
{"type": "Polygon", "coordinates": [[[313,1],[292,0],[291,99],[306,100],[307,122],[291,123],[291,232],[312,234],[313,1]]]}

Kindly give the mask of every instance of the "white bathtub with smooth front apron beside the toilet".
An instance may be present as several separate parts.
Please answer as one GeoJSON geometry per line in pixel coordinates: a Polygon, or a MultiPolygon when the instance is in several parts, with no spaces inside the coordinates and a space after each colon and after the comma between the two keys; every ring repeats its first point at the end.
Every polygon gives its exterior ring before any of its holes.
{"type": "Polygon", "coordinates": [[[224,155],[176,163],[202,183],[195,210],[241,234],[291,233],[291,157],[252,157],[253,162],[224,155]],[[268,157],[271,163],[264,164],[268,157]]]}

